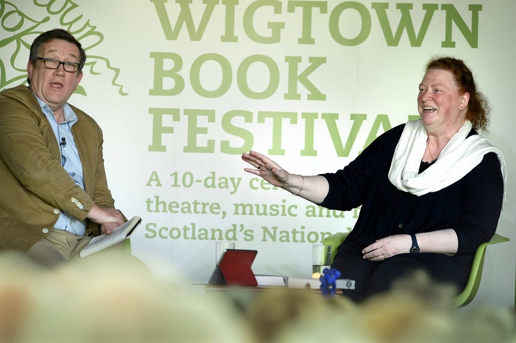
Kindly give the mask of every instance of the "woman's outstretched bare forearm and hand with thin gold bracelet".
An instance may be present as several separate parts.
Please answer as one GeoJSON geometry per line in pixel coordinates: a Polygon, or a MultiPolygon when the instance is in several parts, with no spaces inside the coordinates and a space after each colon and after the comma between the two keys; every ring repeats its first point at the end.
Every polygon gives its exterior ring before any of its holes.
{"type": "Polygon", "coordinates": [[[246,172],[261,176],[271,185],[286,189],[292,194],[299,195],[299,197],[307,199],[314,204],[320,204],[328,194],[329,184],[324,176],[291,174],[267,156],[255,151],[250,151],[249,154],[242,154],[242,159],[256,168],[244,168],[246,172]]]}

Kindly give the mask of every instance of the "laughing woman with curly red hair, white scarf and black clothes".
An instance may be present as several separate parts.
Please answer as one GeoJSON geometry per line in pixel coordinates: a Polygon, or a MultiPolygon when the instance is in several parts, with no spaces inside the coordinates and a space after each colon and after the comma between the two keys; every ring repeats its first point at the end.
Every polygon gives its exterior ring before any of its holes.
{"type": "Polygon", "coordinates": [[[453,57],[431,59],[419,85],[421,119],[385,132],[335,173],[288,173],[266,156],[242,155],[263,177],[320,206],[361,206],[332,264],[360,301],[423,269],[461,291],[476,249],[496,231],[505,192],[505,158],[486,131],[489,105],[473,74],[453,57]]]}

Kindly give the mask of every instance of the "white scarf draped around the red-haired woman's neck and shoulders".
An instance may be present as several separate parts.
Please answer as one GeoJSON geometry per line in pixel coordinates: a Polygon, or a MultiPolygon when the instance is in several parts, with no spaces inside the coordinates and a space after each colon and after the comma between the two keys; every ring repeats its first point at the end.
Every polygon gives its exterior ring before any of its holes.
{"type": "Polygon", "coordinates": [[[421,119],[407,122],[394,151],[389,180],[399,190],[420,197],[459,181],[480,164],[483,155],[493,152],[502,167],[505,201],[507,164],[504,154],[485,137],[472,135],[466,138],[470,130],[471,122],[466,120],[459,132],[448,141],[436,162],[418,174],[428,136],[421,119]]]}

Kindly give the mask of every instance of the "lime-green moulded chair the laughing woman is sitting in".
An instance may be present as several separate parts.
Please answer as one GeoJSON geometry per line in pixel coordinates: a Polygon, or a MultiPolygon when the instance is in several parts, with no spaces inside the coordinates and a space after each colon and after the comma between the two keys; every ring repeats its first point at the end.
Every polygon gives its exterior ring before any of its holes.
{"type": "MultiPolygon", "coordinates": [[[[341,245],[347,235],[347,232],[337,233],[324,239],[323,243],[331,246],[331,262],[333,262],[333,259],[335,258],[337,247],[341,245]]],[[[469,280],[467,280],[466,287],[457,297],[455,297],[455,305],[457,307],[463,307],[469,304],[477,293],[478,286],[480,285],[480,278],[482,276],[483,261],[486,256],[487,246],[489,244],[507,242],[508,240],[509,238],[507,237],[494,234],[493,238],[491,238],[489,242],[480,244],[480,247],[478,247],[475,253],[475,257],[473,258],[471,274],[469,280]]]]}

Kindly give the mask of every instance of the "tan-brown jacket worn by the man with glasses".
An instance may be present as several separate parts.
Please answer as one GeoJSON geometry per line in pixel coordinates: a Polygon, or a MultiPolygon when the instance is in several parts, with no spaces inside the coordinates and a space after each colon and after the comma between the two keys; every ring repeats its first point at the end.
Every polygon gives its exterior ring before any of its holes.
{"type": "MultiPolygon", "coordinates": [[[[72,109],[85,190],[61,166],[57,139],[34,94],[26,86],[0,93],[0,251],[27,251],[50,231],[60,211],[82,221],[94,203],[115,207],[104,170],[102,130],[86,113],[72,109]]],[[[96,229],[88,220],[86,235],[96,235],[96,229]]]]}

